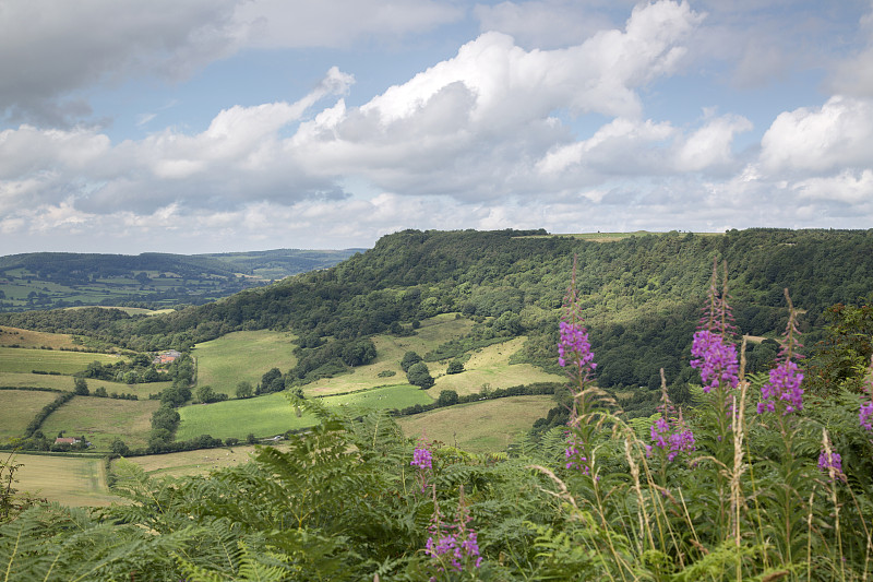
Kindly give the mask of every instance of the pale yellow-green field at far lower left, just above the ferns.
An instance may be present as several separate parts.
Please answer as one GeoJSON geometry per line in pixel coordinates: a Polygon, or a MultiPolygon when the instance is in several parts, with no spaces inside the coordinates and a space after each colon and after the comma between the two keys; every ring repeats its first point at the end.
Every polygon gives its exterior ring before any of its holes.
{"type": "Polygon", "coordinates": [[[73,507],[109,506],[123,501],[106,485],[106,468],[101,458],[47,456],[16,454],[22,463],[15,477],[15,488],[73,507]]]}

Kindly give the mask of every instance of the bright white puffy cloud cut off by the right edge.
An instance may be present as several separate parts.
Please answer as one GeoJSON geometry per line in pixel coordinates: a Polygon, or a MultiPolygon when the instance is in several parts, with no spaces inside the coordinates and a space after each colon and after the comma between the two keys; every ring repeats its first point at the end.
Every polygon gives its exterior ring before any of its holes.
{"type": "Polygon", "coordinates": [[[761,145],[769,171],[873,166],[873,100],[837,95],[818,109],[782,112],[761,145]]]}

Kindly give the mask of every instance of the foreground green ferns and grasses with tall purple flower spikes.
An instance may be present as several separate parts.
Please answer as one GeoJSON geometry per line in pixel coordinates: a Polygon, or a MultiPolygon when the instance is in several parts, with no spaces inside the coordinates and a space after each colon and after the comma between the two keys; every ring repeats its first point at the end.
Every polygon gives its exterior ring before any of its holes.
{"type": "MultiPolygon", "coordinates": [[[[19,513],[7,580],[869,580],[873,378],[806,394],[796,311],[776,366],[745,375],[716,277],[694,334],[697,405],[631,424],[591,384],[575,286],[560,325],[567,426],[517,455],[412,443],[383,413],[296,401],[287,452],[205,477],[120,464],[133,501],[19,513]]],[[[786,295],[787,297],[787,295],[786,295]]],[[[844,355],[848,353],[844,351],[844,355]]],[[[868,355],[869,356],[869,355],[868,355]]],[[[866,373],[866,376],[865,376],[866,373]]],[[[666,383],[666,382],[665,382],[666,383]]],[[[8,475],[4,473],[3,476],[8,475]]],[[[10,482],[11,485],[11,482],[10,482]]]]}

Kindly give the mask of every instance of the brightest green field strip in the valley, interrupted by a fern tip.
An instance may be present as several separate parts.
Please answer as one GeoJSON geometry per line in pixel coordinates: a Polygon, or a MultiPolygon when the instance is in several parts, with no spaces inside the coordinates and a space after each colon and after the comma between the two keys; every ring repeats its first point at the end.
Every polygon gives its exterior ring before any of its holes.
{"type": "MultiPolygon", "coordinates": [[[[433,400],[423,390],[399,384],[330,396],[323,399],[323,402],[327,406],[405,408],[415,404],[429,404],[433,400]]],[[[201,435],[219,439],[244,439],[249,433],[266,437],[306,428],[316,421],[307,414],[298,417],[283,393],[214,404],[194,404],[179,408],[179,415],[182,421],[176,432],[177,440],[188,440],[201,435]]]]}

